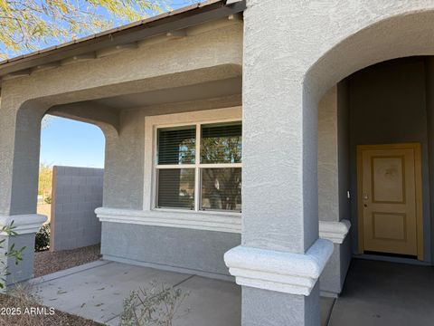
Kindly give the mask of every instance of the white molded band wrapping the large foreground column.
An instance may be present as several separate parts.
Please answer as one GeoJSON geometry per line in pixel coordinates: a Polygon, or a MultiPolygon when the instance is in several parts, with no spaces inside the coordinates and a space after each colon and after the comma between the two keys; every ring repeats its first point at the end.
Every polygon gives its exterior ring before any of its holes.
{"type": "Polygon", "coordinates": [[[224,254],[236,283],[254,288],[309,295],[333,253],[333,243],[317,239],[306,254],[237,246],[224,254]]]}

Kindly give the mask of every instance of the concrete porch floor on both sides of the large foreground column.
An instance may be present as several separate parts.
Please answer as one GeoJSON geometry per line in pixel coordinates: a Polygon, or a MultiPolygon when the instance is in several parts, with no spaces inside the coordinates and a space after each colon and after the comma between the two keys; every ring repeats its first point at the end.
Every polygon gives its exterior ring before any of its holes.
{"type": "MultiPolygon", "coordinates": [[[[231,281],[97,261],[29,283],[45,305],[108,325],[118,326],[131,290],[151,283],[189,293],[174,325],[241,324],[241,287],[231,281]]],[[[434,318],[433,286],[432,267],[354,259],[341,296],[321,298],[321,325],[427,325],[434,318]]]]}

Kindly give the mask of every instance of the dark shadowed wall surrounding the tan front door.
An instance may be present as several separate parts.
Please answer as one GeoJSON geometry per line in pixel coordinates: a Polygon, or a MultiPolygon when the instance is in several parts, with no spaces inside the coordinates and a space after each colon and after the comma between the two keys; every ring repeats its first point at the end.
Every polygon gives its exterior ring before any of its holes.
{"type": "Polygon", "coordinates": [[[384,62],[349,78],[353,251],[357,250],[356,145],[420,142],[425,260],[430,261],[429,157],[425,64],[384,62]]]}

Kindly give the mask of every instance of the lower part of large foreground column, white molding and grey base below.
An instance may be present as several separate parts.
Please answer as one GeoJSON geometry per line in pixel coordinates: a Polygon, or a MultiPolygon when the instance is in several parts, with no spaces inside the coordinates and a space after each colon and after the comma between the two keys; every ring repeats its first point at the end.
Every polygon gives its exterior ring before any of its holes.
{"type": "Polygon", "coordinates": [[[317,281],[332,253],[331,241],[317,239],[306,254],[242,245],[224,254],[242,286],[241,325],[319,325],[317,281]]]}

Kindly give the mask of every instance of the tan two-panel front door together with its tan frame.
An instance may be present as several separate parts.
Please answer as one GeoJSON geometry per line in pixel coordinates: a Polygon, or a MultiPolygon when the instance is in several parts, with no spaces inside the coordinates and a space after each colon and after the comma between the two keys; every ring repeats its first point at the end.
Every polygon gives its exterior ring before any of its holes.
{"type": "Polygon", "coordinates": [[[420,144],[357,147],[361,251],[422,259],[420,144]]]}

